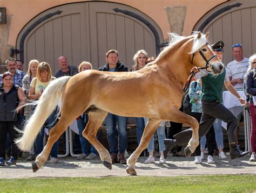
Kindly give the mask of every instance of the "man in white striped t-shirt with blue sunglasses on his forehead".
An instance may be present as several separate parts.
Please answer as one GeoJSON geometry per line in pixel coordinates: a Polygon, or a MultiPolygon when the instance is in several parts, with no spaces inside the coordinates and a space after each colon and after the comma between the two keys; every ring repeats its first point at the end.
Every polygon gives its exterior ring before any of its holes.
{"type": "MultiPolygon", "coordinates": [[[[233,56],[234,60],[227,64],[227,73],[230,78],[230,83],[233,85],[235,90],[244,90],[244,76],[249,66],[249,59],[242,56],[242,45],[233,45],[233,56]]],[[[234,112],[233,112],[234,113],[234,112]]],[[[238,123],[240,123],[242,112],[237,116],[238,123]]],[[[237,127],[237,144],[239,147],[239,126],[237,127]]]]}

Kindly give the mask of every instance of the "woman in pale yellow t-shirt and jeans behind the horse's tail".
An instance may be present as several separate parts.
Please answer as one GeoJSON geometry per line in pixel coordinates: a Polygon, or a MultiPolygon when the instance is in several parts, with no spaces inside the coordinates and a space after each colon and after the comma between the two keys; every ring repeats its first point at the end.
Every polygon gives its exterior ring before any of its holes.
{"type": "MultiPolygon", "coordinates": [[[[39,63],[37,67],[37,75],[32,79],[30,83],[29,89],[29,99],[36,100],[41,97],[45,88],[50,84],[52,80],[55,80],[55,77],[51,76],[51,67],[47,62],[39,63]]],[[[56,110],[53,111],[51,116],[45,121],[42,126],[41,132],[38,133],[36,138],[36,151],[35,154],[38,155],[43,151],[43,139],[44,139],[44,128],[49,128],[49,130],[54,127],[57,123],[56,118],[56,110]]],[[[58,141],[52,147],[51,150],[51,159],[50,163],[58,162],[58,141]]]]}

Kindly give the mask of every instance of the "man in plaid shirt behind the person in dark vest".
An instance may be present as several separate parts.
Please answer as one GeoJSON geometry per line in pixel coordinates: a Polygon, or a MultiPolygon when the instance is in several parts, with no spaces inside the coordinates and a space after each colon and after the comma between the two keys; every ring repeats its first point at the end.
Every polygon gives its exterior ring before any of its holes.
{"type": "MultiPolygon", "coordinates": [[[[22,79],[26,75],[21,70],[17,70],[17,61],[14,58],[9,58],[5,61],[8,72],[12,74],[14,84],[22,87],[22,79]]],[[[0,75],[0,85],[2,85],[2,74],[0,75]]]]}

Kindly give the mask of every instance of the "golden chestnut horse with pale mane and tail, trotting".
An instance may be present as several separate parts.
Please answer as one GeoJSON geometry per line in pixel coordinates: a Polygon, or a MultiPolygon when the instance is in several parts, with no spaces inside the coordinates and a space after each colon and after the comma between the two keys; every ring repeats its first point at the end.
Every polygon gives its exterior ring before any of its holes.
{"type": "Polygon", "coordinates": [[[199,144],[198,122],[179,111],[183,86],[193,66],[206,68],[213,74],[223,71],[223,63],[207,44],[206,35],[197,32],[189,37],[171,34],[174,41],[157,59],[136,72],[102,72],[85,70],[73,77],[64,76],[52,81],[37,103],[33,115],[26,121],[23,135],[17,145],[29,151],[37,134],[51,112],[61,102],[60,119],[50,130],[43,152],[33,162],[37,171],[48,159],[52,145],[82,113],[88,113],[89,123],[83,136],[97,149],[104,166],[111,169],[109,152],[96,139],[107,112],[125,117],[148,117],[143,137],[136,151],[127,160],[127,173],[136,175],[135,163],[147,147],[162,120],[186,123],[192,126],[193,135],[187,149],[194,152],[199,144]]]}

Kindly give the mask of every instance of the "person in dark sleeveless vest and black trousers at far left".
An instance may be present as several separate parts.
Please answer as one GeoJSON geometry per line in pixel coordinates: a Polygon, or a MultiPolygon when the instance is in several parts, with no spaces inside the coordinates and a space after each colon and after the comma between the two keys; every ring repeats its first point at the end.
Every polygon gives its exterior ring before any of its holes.
{"type": "Polygon", "coordinates": [[[6,164],[16,164],[18,148],[14,140],[18,132],[14,127],[19,127],[17,113],[20,110],[19,107],[26,102],[24,91],[18,85],[14,85],[11,73],[5,72],[2,81],[2,87],[0,88],[0,166],[5,165],[7,133],[9,133],[11,140],[11,157],[6,164]]]}

